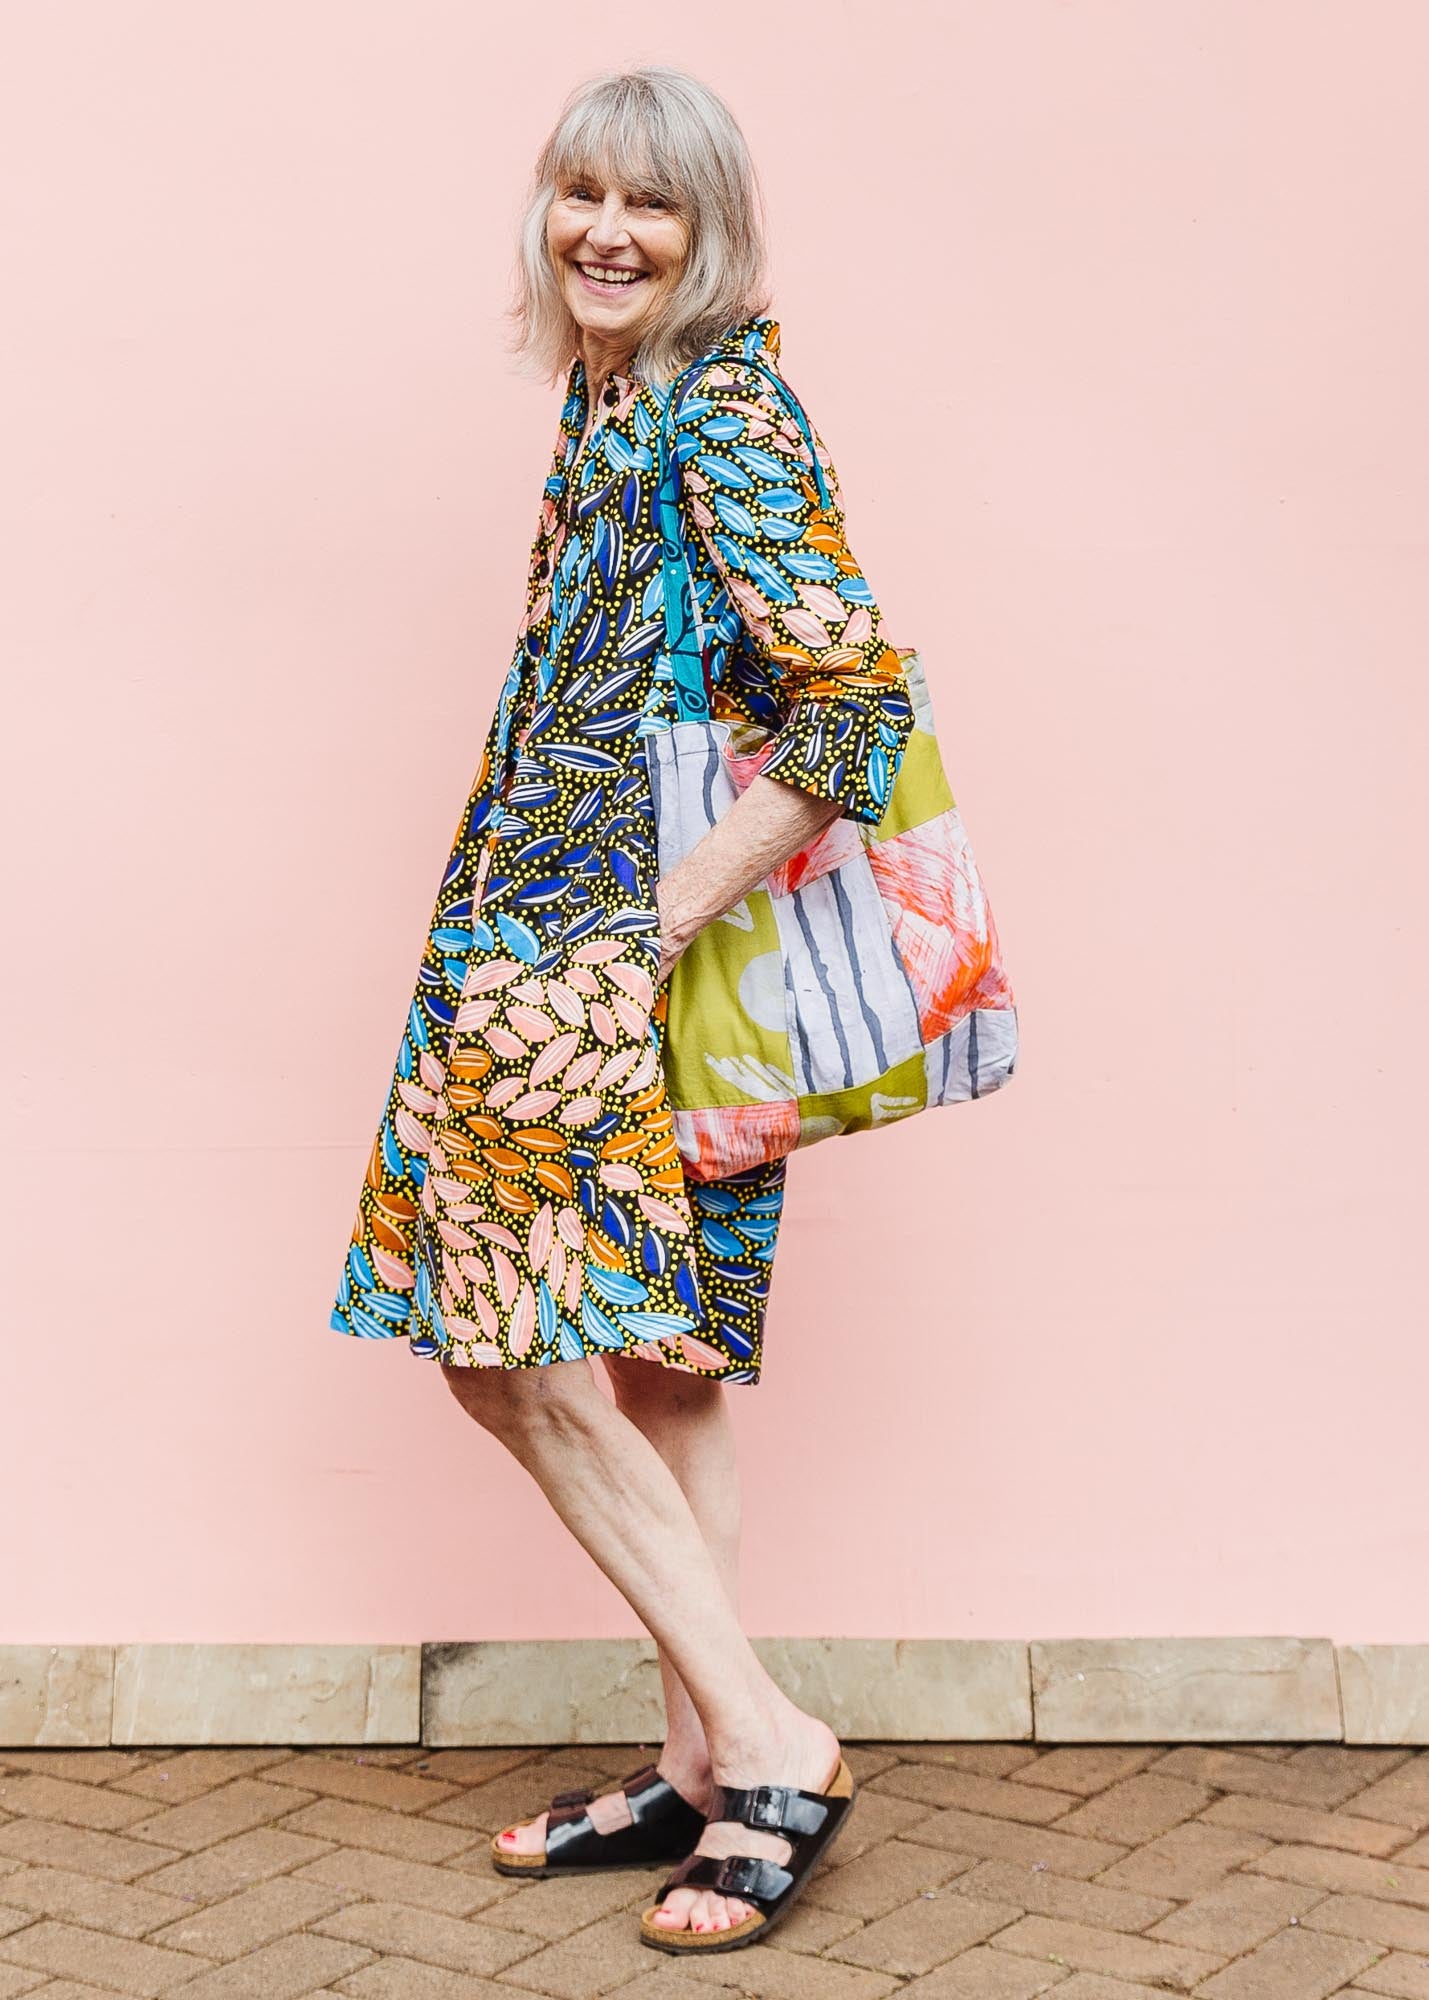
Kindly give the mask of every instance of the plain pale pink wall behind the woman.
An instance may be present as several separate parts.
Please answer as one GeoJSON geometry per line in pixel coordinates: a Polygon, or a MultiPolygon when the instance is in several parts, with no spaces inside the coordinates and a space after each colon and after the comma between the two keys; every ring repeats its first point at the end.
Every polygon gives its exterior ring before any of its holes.
{"type": "Polygon", "coordinates": [[[8,28],[0,1640],[634,1630],[326,1314],[554,436],[512,216],[648,58],[757,148],[1023,1020],[793,1166],[751,1630],[1429,1640],[1423,10],[8,28]]]}

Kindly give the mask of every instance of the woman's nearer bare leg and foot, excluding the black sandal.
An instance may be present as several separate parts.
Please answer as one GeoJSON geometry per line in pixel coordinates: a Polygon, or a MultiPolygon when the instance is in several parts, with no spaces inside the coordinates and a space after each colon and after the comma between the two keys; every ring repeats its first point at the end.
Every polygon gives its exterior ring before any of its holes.
{"type": "MultiPolygon", "coordinates": [[[[654,1362],[628,1366],[666,1374],[654,1362]]],[[[674,1472],[604,1396],[588,1362],[444,1374],[654,1636],[704,1730],[714,1778],[823,1788],[839,1754],[833,1730],[797,1708],[759,1664],[674,1472]]],[[[678,1370],[668,1374],[678,1378],[678,1370]]],[[[775,1834],[733,1824],[706,1826],[698,1850],[771,1860],[791,1852],[775,1834]]],[[[749,1914],[747,1904],[710,1890],[674,1890],[664,1908],[670,1928],[696,1930],[749,1914]]]]}

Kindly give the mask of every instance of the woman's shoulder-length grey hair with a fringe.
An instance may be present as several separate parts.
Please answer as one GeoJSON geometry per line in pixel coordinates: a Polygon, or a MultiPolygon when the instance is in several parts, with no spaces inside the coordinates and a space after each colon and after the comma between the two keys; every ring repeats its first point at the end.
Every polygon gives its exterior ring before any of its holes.
{"type": "Polygon", "coordinates": [[[556,380],[578,350],[580,328],[546,248],[546,214],[556,190],[580,174],[648,188],[688,228],[684,268],[630,358],[634,374],[668,382],[731,326],[767,308],[763,196],[729,106],[684,70],[612,70],[566,98],[536,156],[508,312],[522,374],[556,380]]]}

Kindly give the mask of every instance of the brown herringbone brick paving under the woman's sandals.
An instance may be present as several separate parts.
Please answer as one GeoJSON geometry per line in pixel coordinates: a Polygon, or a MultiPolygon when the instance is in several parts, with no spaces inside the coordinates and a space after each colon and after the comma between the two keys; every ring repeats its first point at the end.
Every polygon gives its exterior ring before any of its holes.
{"type": "Polygon", "coordinates": [[[1429,1752],[847,1744],[771,1944],[684,1964],[662,1870],[488,1836],[650,1746],[0,1750],[0,2000],[1429,2000],[1429,1752]]]}

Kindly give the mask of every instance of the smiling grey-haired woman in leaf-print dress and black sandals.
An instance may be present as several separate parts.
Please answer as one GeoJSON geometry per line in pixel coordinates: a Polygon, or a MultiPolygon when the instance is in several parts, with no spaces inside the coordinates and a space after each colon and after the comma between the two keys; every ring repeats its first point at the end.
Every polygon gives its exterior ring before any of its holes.
{"type": "Polygon", "coordinates": [[[656,1764],[600,1798],[562,1794],[492,1856],[508,1874],[678,1860],[640,1918],[670,1952],[765,1936],[853,1780],[735,1614],[725,1384],[759,1380],[785,1160],[686,1184],[662,982],[835,818],[879,820],[887,768],[871,786],[849,744],[875,712],[887,744],[893,718],[897,770],[913,724],[823,444],[829,508],[787,400],[751,366],[781,346],[763,300],[757,182],[725,104],[658,66],[586,84],[540,154],[522,236],[522,352],[568,366],[526,614],[334,1314],[436,1356],[654,1634],[656,1764]],[[660,876],[644,740],[674,720],[652,596],[672,384],[710,712],[777,742],[660,876]],[[835,740],[835,716],[859,728],[835,740]]]}

